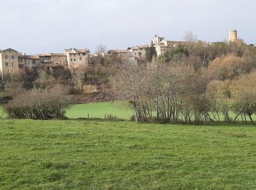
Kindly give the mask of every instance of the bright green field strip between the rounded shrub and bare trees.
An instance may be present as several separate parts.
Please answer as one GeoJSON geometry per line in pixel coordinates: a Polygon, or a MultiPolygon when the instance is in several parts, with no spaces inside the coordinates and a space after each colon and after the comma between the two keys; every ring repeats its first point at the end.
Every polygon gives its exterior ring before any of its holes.
{"type": "Polygon", "coordinates": [[[68,118],[104,118],[104,115],[116,115],[118,118],[129,119],[132,111],[124,108],[121,102],[101,102],[75,104],[67,110],[68,118]]]}

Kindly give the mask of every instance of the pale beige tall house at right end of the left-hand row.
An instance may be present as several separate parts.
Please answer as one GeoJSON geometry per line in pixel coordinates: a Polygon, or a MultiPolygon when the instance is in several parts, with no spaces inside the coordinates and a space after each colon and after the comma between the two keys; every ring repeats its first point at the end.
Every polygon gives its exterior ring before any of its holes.
{"type": "Polygon", "coordinates": [[[91,60],[89,49],[70,48],[64,50],[64,53],[67,56],[68,69],[70,69],[72,74],[75,74],[79,69],[86,68],[91,60]]]}

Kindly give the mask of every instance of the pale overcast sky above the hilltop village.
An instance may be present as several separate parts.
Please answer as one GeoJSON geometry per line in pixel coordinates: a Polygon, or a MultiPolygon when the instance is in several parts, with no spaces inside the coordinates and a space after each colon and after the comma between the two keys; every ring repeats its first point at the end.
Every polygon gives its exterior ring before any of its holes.
{"type": "Polygon", "coordinates": [[[255,7],[255,0],[0,0],[0,49],[117,49],[148,44],[154,34],[181,40],[187,31],[214,42],[231,29],[255,44],[255,7]]]}

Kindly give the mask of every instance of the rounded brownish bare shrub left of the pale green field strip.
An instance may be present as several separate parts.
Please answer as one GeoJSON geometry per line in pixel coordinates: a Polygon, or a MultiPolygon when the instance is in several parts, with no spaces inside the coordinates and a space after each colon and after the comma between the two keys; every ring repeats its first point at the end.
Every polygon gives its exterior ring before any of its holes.
{"type": "Polygon", "coordinates": [[[42,91],[26,91],[16,96],[5,107],[11,118],[51,119],[64,118],[71,104],[69,96],[42,91]]]}

